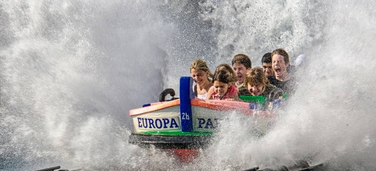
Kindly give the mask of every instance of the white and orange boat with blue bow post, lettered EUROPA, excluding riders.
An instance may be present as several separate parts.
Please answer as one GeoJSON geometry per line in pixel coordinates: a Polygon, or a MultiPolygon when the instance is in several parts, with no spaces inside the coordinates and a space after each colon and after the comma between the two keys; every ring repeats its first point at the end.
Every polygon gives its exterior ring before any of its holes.
{"type": "Polygon", "coordinates": [[[194,96],[192,84],[191,77],[181,77],[180,99],[165,102],[166,94],[175,95],[173,89],[166,89],[161,93],[159,103],[130,110],[134,133],[129,136],[129,143],[141,147],[153,145],[159,149],[205,148],[220,123],[234,111],[254,118],[258,125],[257,134],[265,134],[272,126],[275,114],[272,110],[262,110],[266,105],[201,100],[194,96]]]}

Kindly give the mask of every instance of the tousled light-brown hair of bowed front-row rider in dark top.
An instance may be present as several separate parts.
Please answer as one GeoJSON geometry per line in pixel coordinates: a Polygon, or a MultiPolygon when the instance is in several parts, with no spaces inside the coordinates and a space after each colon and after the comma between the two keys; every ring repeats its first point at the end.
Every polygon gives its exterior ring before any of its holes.
{"type": "Polygon", "coordinates": [[[248,86],[266,86],[269,85],[270,82],[265,75],[265,72],[262,70],[260,66],[256,66],[251,68],[246,73],[246,79],[244,80],[244,85],[248,86]]]}

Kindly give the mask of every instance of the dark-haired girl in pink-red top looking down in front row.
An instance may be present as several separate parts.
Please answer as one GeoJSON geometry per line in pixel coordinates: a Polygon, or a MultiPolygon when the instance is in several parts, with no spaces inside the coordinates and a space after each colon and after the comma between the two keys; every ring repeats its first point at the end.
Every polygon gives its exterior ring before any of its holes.
{"type": "Polygon", "coordinates": [[[207,100],[227,100],[242,101],[238,97],[238,91],[235,85],[231,83],[236,81],[236,77],[226,70],[218,70],[214,73],[212,80],[213,86],[209,89],[207,100]]]}

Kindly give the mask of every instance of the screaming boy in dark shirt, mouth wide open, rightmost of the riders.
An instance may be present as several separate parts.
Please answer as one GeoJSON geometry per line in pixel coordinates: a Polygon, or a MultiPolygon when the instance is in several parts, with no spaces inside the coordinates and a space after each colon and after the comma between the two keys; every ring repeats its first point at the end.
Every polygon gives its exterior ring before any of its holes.
{"type": "Polygon", "coordinates": [[[290,65],[289,54],[286,50],[279,48],[272,52],[272,68],[275,76],[269,76],[268,79],[272,85],[281,88],[284,92],[291,93],[294,86],[292,76],[287,72],[290,65]]]}

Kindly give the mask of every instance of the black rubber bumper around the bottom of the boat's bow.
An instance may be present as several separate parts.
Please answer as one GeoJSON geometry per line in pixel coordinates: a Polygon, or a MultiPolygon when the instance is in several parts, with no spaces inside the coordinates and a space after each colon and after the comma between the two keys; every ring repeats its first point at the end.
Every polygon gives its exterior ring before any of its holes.
{"type": "Polygon", "coordinates": [[[206,148],[212,135],[145,135],[132,133],[128,142],[140,147],[155,146],[157,149],[199,149],[206,148]]]}

